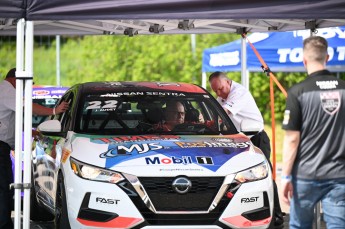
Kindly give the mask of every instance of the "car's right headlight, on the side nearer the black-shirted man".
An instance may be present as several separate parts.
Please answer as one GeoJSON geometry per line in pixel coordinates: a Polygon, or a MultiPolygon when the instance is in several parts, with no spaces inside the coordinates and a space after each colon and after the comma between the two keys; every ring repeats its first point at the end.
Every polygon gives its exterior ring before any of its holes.
{"type": "Polygon", "coordinates": [[[268,166],[266,162],[263,162],[255,167],[237,173],[235,176],[235,180],[240,183],[246,183],[265,179],[267,175],[268,166]]]}

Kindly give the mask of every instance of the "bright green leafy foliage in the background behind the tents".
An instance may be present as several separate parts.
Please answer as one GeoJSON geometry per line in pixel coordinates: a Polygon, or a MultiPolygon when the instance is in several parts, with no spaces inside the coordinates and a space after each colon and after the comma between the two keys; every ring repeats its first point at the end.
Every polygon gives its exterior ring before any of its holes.
{"type": "MultiPolygon", "coordinates": [[[[190,35],[84,36],[62,37],[61,84],[72,86],[88,81],[176,81],[201,85],[202,52],[239,39],[237,34],[200,34],[193,54],[190,35]]],[[[56,84],[55,37],[35,37],[34,81],[36,85],[56,84]]],[[[15,66],[15,38],[0,40],[0,77],[15,66]]],[[[208,73],[209,75],[210,73],[208,73]]],[[[287,90],[305,78],[305,73],[275,73],[287,90]]],[[[228,76],[241,81],[240,72],[228,76]]],[[[344,79],[344,73],[341,77],[344,79]]],[[[209,89],[209,85],[208,90],[209,89]]],[[[265,122],[270,123],[269,78],[250,73],[252,92],[265,122]]],[[[281,121],[285,97],[275,86],[275,112],[281,121]]]]}

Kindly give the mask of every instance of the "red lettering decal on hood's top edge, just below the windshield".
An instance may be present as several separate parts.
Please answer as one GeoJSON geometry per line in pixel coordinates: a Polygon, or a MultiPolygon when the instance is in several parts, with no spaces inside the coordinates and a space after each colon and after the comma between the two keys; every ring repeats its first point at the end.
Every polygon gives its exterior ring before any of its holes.
{"type": "Polygon", "coordinates": [[[162,140],[178,140],[177,135],[140,135],[140,136],[119,136],[112,138],[93,138],[90,139],[93,143],[98,144],[112,144],[112,143],[125,143],[125,142],[141,142],[141,141],[162,141],[162,140]]]}

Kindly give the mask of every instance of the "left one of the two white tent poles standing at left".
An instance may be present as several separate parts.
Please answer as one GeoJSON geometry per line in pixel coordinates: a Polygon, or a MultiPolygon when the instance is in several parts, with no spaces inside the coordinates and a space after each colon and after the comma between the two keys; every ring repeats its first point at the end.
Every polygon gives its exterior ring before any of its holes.
{"type": "MultiPolygon", "coordinates": [[[[17,22],[16,41],[16,77],[24,72],[24,28],[25,20],[17,22]]],[[[22,183],[22,133],[23,133],[23,80],[16,79],[16,114],[15,114],[15,171],[14,183],[22,183]]],[[[21,228],[21,189],[14,189],[14,228],[21,228]]]]}

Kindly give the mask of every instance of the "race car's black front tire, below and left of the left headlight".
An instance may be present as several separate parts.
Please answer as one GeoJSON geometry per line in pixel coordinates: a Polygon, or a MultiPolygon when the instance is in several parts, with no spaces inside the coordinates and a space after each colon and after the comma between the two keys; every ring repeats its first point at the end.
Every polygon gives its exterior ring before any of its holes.
{"type": "Polygon", "coordinates": [[[70,229],[68,212],[67,212],[67,202],[66,202],[66,191],[65,183],[62,174],[58,177],[58,187],[56,190],[56,207],[55,207],[55,228],[56,229],[70,229]]]}

